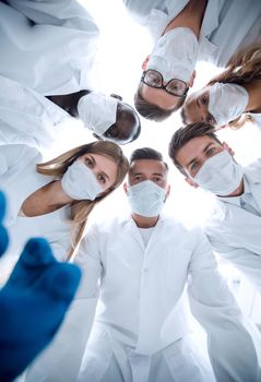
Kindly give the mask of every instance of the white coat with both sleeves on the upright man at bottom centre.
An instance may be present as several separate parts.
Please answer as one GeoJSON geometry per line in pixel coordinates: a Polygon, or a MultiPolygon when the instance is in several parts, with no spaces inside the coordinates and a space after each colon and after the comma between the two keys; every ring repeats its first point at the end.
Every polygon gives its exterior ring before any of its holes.
{"type": "Polygon", "coordinates": [[[116,218],[87,230],[76,263],[84,272],[78,300],[26,382],[75,380],[71,370],[80,366],[98,291],[79,381],[118,382],[121,375],[124,382],[152,382],[150,363],[158,355],[156,363],[168,365],[170,381],[204,380],[197,356],[183,343],[188,329],[179,301],[187,282],[191,311],[207,332],[217,381],[258,381],[252,341],[210,244],[198,230],[162,217],[145,248],[133,219],[116,218]],[[116,365],[120,372],[114,375],[116,365]]]}

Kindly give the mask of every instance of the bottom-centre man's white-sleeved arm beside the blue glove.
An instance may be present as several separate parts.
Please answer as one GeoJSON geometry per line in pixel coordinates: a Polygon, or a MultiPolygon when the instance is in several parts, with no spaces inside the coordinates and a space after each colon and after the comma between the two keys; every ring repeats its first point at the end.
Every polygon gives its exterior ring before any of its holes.
{"type": "Polygon", "coordinates": [[[82,270],[79,291],[52,345],[28,370],[26,382],[64,382],[64,375],[68,381],[76,379],[98,298],[102,265],[96,238],[97,234],[91,229],[80,246],[75,259],[82,270]]]}

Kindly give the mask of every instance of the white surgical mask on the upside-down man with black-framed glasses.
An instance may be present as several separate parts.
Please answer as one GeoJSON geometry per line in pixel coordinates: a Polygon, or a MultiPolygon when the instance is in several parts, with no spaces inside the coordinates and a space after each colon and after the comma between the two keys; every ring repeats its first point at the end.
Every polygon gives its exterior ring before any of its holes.
{"type": "Polygon", "coordinates": [[[193,32],[177,27],[163,35],[156,43],[146,69],[162,73],[165,81],[171,79],[189,82],[198,58],[199,41],[193,32]]]}

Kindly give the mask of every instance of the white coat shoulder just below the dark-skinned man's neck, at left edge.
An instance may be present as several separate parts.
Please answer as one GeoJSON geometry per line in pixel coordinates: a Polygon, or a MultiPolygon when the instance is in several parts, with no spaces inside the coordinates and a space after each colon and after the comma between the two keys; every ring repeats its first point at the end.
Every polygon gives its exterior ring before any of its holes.
{"type": "Polygon", "coordinates": [[[0,75],[0,145],[49,147],[71,116],[45,96],[0,75]]]}

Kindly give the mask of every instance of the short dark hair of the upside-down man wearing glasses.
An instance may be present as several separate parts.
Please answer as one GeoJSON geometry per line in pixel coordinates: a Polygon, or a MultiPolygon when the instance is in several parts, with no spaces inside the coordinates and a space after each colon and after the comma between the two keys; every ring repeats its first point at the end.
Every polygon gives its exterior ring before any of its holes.
{"type": "Polygon", "coordinates": [[[142,89],[142,84],[139,85],[138,91],[134,95],[134,105],[139,114],[150,120],[156,121],[156,122],[162,122],[165,119],[167,119],[171,114],[176,110],[178,110],[182,105],[186,99],[186,97],[180,97],[178,104],[175,106],[175,108],[170,110],[165,110],[162,109],[161,107],[150,104],[147,100],[145,100],[142,97],[141,94],[142,89]]]}

